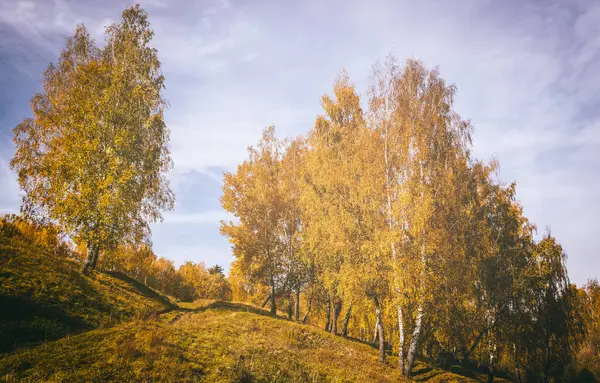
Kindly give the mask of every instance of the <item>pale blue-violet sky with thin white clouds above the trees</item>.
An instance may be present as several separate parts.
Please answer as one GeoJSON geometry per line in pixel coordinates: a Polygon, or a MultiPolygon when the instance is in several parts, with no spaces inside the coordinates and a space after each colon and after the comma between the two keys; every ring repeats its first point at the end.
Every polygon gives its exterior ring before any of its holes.
{"type": "MultiPolygon", "coordinates": [[[[219,234],[222,174],[261,131],[307,132],[344,68],[366,93],[392,52],[438,66],[458,88],[473,153],[500,162],[526,216],[568,255],[571,280],[600,276],[600,1],[147,0],[166,77],[175,210],[153,225],[155,251],[229,267],[219,234]]],[[[132,4],[0,0],[0,214],[17,212],[11,129],[75,26],[99,43],[132,4]]]]}

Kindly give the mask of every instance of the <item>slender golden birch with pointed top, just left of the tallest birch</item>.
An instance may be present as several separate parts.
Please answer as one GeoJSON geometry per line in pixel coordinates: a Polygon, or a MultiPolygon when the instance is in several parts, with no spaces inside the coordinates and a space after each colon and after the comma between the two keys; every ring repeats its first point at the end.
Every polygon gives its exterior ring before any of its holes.
{"type": "MultiPolygon", "coordinates": [[[[364,124],[360,100],[342,73],[334,85],[335,99],[323,96],[325,115],[319,116],[308,138],[307,186],[302,201],[309,220],[307,241],[315,255],[319,280],[329,294],[326,329],[336,332],[342,304],[341,269],[350,245],[347,225],[352,185],[347,161],[356,147],[353,137],[364,124]]],[[[350,223],[351,224],[351,223],[350,223]]]]}

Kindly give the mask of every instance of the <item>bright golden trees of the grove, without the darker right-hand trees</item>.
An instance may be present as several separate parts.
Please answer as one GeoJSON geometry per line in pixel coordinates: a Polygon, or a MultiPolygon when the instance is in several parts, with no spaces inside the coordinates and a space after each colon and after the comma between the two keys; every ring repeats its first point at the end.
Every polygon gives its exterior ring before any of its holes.
{"type": "MultiPolygon", "coordinates": [[[[453,248],[464,243],[448,240],[461,228],[449,230],[448,221],[466,219],[460,193],[470,166],[470,126],[452,110],[454,91],[436,71],[413,60],[400,68],[390,57],[375,66],[363,112],[342,73],[306,136],[280,142],[267,129],[224,179],[223,207],[239,221],[222,232],[248,278],[272,292],[289,279],[318,284],[328,299],[369,299],[377,312],[383,300],[399,312],[412,301],[407,373],[429,286],[439,279],[430,264],[464,253],[453,248]]],[[[335,326],[335,309],[333,316],[335,326]]]]}

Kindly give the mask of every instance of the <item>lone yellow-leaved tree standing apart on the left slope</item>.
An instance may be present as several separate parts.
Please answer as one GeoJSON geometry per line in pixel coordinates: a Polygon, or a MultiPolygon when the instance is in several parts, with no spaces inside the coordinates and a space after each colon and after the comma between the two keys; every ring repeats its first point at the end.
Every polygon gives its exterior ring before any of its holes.
{"type": "Polygon", "coordinates": [[[152,35],[139,6],[106,29],[103,49],[78,26],[43,74],[33,117],[13,130],[22,210],[86,244],[84,273],[96,268],[100,249],[147,240],[149,224],[173,207],[164,77],[152,35]]]}

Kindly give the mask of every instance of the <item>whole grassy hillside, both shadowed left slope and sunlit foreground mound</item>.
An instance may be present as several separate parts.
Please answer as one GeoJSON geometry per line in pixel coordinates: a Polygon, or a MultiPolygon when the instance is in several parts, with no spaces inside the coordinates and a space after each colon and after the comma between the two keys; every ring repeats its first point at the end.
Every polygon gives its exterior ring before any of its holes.
{"type": "MultiPolygon", "coordinates": [[[[1,233],[0,233],[1,234],[1,233]]],[[[398,382],[397,359],[243,304],[175,302],[0,235],[0,381],[398,382]]],[[[455,368],[456,369],[456,368],[455,368]]],[[[485,381],[417,365],[416,380],[485,381]]]]}

